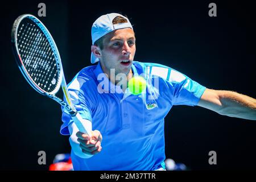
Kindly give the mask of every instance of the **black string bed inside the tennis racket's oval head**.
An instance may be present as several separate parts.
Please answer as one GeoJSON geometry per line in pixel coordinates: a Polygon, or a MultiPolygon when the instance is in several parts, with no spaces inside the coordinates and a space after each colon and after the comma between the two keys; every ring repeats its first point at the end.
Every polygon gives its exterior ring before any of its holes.
{"type": "Polygon", "coordinates": [[[41,89],[52,92],[59,81],[59,72],[43,31],[32,20],[24,19],[18,28],[17,43],[28,75],[41,89]]]}

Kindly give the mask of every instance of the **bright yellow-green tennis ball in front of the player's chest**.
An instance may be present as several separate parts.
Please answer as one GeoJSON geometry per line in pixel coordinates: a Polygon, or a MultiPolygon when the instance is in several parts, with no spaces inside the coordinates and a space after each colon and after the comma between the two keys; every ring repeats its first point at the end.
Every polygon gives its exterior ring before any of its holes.
{"type": "Polygon", "coordinates": [[[141,76],[134,76],[128,82],[128,88],[134,95],[141,94],[147,86],[146,80],[141,76]]]}

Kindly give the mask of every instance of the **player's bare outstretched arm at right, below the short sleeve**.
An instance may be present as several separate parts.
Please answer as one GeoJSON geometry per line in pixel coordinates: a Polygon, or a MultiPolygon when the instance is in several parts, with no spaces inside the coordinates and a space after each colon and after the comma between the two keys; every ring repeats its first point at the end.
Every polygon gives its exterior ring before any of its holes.
{"type": "Polygon", "coordinates": [[[237,92],[205,89],[197,105],[221,115],[256,120],[256,100],[237,92]]]}

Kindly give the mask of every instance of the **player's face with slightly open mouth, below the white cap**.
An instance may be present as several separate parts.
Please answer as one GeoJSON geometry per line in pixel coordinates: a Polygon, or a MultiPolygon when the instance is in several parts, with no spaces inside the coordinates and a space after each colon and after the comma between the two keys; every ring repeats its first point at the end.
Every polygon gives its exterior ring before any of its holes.
{"type": "Polygon", "coordinates": [[[103,47],[100,58],[103,71],[109,75],[110,69],[114,69],[115,75],[127,75],[136,51],[134,31],[123,28],[110,32],[103,40],[103,47]]]}

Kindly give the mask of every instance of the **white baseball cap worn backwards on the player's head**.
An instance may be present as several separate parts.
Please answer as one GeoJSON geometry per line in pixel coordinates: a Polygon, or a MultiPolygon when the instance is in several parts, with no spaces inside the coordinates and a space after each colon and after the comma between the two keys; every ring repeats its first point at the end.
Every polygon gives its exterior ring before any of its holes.
{"type": "MultiPolygon", "coordinates": [[[[100,16],[100,18],[98,18],[92,25],[92,44],[94,44],[98,39],[102,38],[102,36],[108,34],[109,32],[121,28],[133,29],[133,26],[131,26],[129,19],[125,16],[118,13],[110,13],[100,16]],[[125,18],[127,20],[127,23],[113,24],[112,20],[116,16],[122,16],[122,18],[125,18]]],[[[96,57],[92,53],[92,55],[90,56],[90,62],[96,63],[97,61],[99,61],[98,57],[96,57]]]]}

